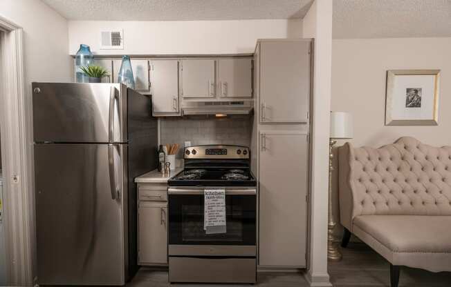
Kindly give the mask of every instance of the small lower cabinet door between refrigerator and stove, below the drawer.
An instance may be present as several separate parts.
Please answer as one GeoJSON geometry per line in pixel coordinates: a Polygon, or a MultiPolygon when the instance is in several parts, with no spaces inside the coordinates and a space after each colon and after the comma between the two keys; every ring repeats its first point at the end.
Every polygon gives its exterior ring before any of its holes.
{"type": "Polygon", "coordinates": [[[167,204],[140,201],[138,264],[167,264],[167,204]]]}

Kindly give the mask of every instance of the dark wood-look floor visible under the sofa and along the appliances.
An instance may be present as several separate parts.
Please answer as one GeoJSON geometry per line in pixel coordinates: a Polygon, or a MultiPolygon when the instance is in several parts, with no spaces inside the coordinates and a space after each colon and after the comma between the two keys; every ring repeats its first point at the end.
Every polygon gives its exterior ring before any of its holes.
{"type": "MultiPolygon", "coordinates": [[[[371,248],[362,243],[350,243],[342,250],[343,259],[329,263],[329,274],[334,287],[389,287],[389,264],[371,248]]],[[[127,287],[238,287],[237,284],[169,284],[167,272],[141,268],[127,287]]],[[[255,286],[307,287],[302,273],[259,273],[255,286]]],[[[451,273],[430,273],[425,270],[402,268],[399,287],[450,287],[451,273]]]]}

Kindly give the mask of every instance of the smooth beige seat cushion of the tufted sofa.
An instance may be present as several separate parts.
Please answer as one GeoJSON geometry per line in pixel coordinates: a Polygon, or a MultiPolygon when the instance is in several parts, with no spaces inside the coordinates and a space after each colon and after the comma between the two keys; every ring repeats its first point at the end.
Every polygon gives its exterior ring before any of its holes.
{"type": "Polygon", "coordinates": [[[451,271],[451,217],[360,215],[353,232],[394,265],[451,271]]]}

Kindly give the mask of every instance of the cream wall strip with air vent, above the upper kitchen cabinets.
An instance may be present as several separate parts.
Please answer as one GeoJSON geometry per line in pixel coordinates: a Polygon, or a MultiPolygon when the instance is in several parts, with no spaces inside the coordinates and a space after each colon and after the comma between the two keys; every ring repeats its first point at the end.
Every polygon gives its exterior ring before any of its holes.
{"type": "Polygon", "coordinates": [[[69,54],[80,44],[99,55],[253,53],[257,39],[300,38],[301,20],[69,21],[69,54]],[[100,50],[100,30],[121,28],[124,50],[100,50]]]}

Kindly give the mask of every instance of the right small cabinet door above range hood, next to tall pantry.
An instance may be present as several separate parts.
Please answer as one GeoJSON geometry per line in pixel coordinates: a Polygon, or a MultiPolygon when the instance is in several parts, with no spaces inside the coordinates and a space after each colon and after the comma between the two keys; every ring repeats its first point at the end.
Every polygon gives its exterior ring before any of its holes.
{"type": "Polygon", "coordinates": [[[252,59],[219,59],[218,81],[221,97],[252,97],[252,59]]]}

